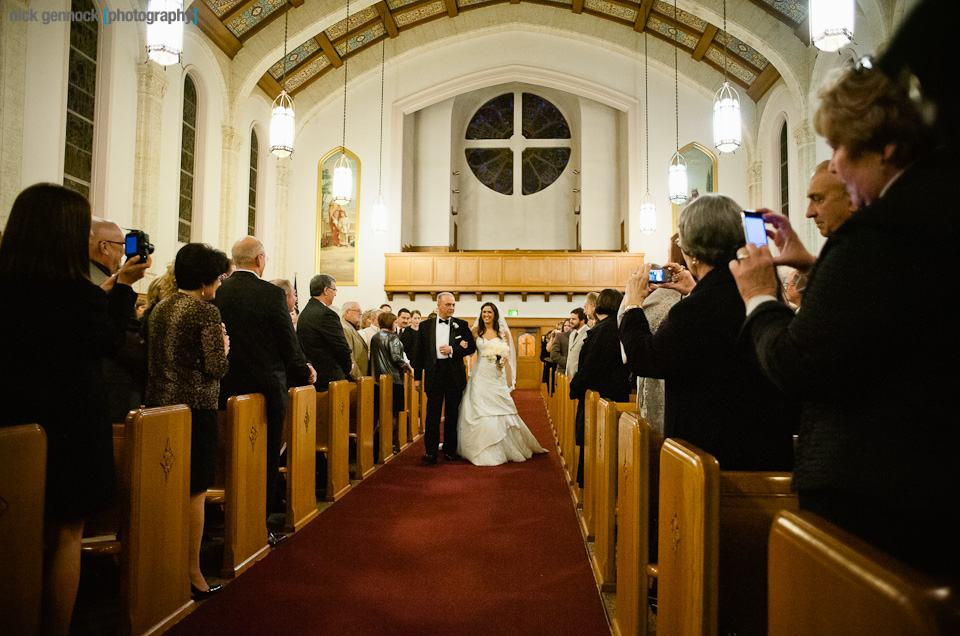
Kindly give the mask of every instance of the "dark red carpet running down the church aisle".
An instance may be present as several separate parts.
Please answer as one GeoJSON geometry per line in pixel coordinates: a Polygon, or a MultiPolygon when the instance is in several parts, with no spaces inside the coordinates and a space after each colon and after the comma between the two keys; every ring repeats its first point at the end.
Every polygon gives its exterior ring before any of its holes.
{"type": "Polygon", "coordinates": [[[417,442],[169,634],[610,636],[539,393],[549,454],[423,466],[417,442]]]}

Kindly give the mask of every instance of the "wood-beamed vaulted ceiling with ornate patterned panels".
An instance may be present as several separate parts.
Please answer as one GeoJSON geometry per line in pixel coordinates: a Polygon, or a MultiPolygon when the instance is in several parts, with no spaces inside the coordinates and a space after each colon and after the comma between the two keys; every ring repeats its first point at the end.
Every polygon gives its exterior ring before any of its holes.
{"type": "MultiPolygon", "coordinates": [[[[195,0],[198,25],[203,33],[228,57],[234,56],[256,34],[287,11],[305,0],[195,0]]],[[[319,0],[309,0],[318,2],[319,0]]],[[[777,81],[780,73],[750,42],[724,32],[684,10],[674,11],[671,3],[660,0],[523,0],[589,15],[638,33],[675,44],[694,60],[727,73],[732,82],[759,100],[777,81]],[[726,53],[726,58],[724,54],[726,53]]],[[[807,43],[806,0],[730,0],[750,2],[763,9],[771,19],[792,30],[807,43]]],[[[296,95],[345,59],[357,55],[383,38],[402,37],[433,20],[456,19],[467,11],[483,10],[497,4],[519,4],[521,0],[381,0],[360,9],[348,18],[314,34],[304,42],[290,42],[285,58],[277,59],[260,78],[258,85],[271,98],[281,86],[296,95]]]]}

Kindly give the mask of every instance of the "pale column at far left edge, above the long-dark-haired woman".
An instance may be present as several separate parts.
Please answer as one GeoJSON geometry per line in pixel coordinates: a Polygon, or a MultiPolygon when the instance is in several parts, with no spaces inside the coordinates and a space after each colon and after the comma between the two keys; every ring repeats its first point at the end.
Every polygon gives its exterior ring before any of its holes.
{"type": "MultiPolygon", "coordinates": [[[[12,20],[29,0],[6,0],[0,15],[0,230],[23,187],[23,109],[27,67],[27,22],[12,20]]],[[[19,15],[19,14],[18,14],[19,15]]]]}

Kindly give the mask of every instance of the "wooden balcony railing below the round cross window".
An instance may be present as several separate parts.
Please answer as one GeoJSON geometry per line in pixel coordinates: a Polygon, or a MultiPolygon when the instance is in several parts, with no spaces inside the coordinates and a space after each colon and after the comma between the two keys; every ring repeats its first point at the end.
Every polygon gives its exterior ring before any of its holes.
{"type": "Polygon", "coordinates": [[[460,294],[551,294],[566,295],[600,291],[606,287],[622,290],[630,272],[643,264],[644,255],[629,252],[402,252],[384,254],[383,289],[394,294],[430,294],[449,291],[460,294]]]}

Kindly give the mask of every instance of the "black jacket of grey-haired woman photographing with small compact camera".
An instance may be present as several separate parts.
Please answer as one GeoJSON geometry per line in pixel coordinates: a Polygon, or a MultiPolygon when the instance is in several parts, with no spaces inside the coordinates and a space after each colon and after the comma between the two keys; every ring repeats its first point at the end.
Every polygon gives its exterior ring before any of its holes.
{"type": "Polygon", "coordinates": [[[714,455],[724,470],[791,470],[796,407],[763,376],[750,348],[738,346],[745,313],[724,265],[674,305],[655,334],[643,309],[628,311],[620,340],[631,371],[665,380],[667,437],[714,455]]]}

